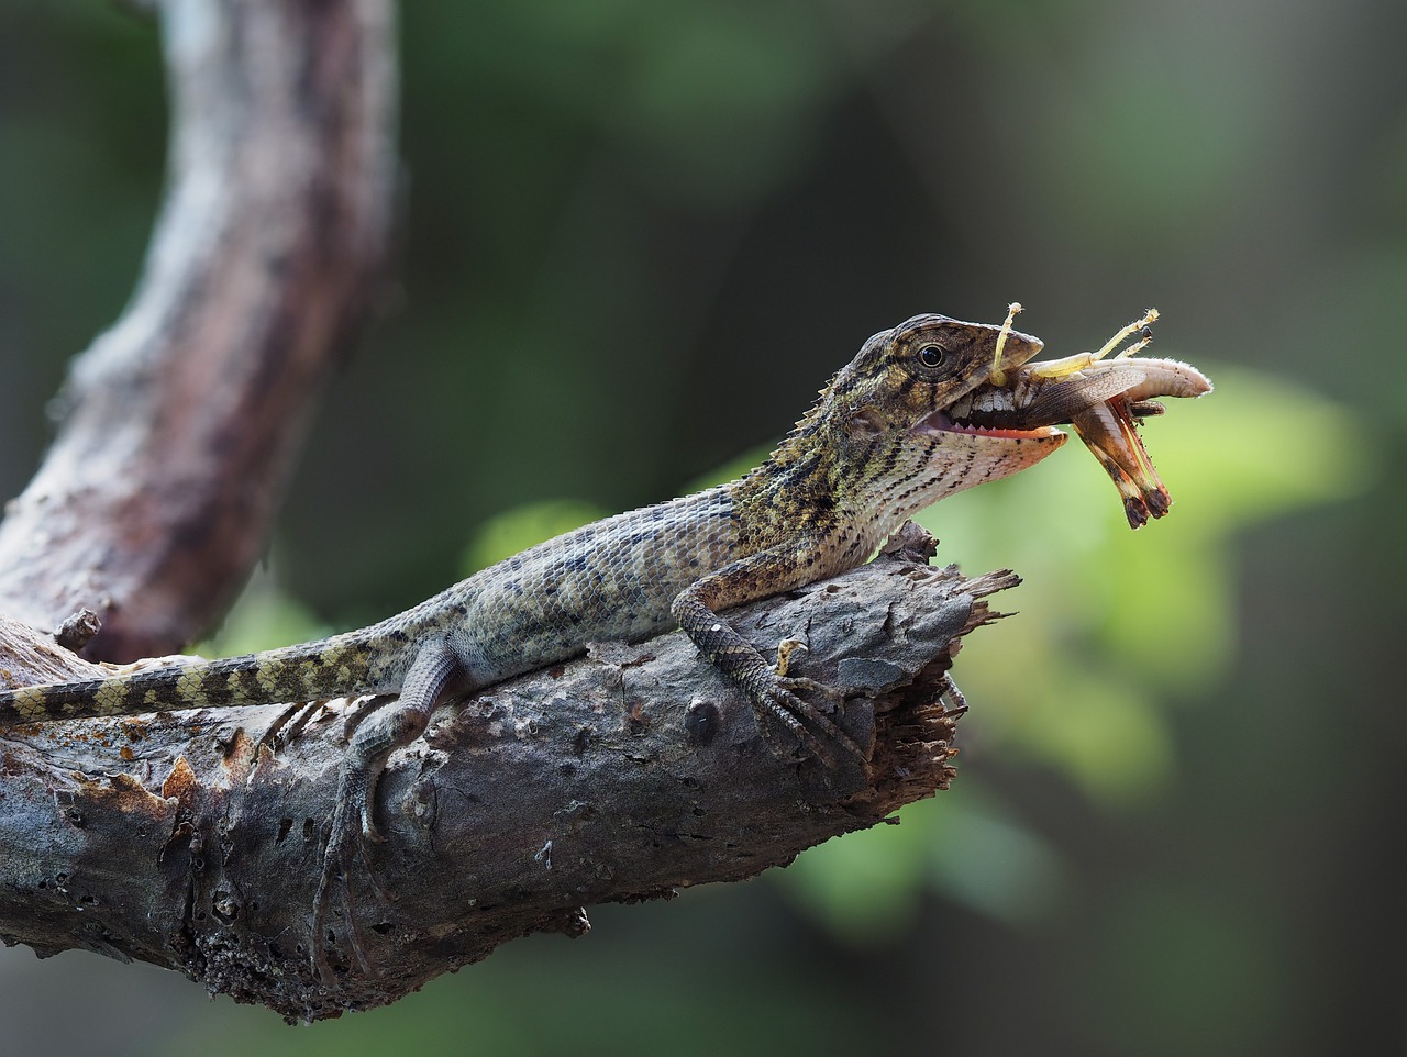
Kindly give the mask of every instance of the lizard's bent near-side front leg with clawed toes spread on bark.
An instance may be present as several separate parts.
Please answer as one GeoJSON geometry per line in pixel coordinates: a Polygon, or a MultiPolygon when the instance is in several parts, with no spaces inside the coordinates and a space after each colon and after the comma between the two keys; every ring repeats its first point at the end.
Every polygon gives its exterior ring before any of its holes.
{"type": "Polygon", "coordinates": [[[817,732],[864,767],[868,762],[867,753],[830,717],[801,696],[801,693],[815,693],[834,699],[836,690],[813,679],[779,675],[751,642],[719,616],[719,610],[730,606],[817,579],[815,573],[808,572],[813,559],[815,554],[798,551],[791,544],[743,558],[691,583],[675,596],[670,613],[709,663],[747,694],[757,715],[758,729],[777,755],[792,753],[775,741],[770,727],[772,721],[785,725],[810,755],[827,766],[836,766],[837,760],[817,732]]]}

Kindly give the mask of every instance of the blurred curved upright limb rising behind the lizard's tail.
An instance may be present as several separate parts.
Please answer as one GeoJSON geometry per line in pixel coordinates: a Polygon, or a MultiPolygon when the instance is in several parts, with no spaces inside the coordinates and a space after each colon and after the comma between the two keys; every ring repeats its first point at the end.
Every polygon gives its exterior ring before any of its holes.
{"type": "Polygon", "coordinates": [[[380,271],[390,0],[170,0],[166,201],[122,318],[0,524],[0,613],[101,617],[93,658],[191,641],[257,559],[303,426],[380,271]]]}

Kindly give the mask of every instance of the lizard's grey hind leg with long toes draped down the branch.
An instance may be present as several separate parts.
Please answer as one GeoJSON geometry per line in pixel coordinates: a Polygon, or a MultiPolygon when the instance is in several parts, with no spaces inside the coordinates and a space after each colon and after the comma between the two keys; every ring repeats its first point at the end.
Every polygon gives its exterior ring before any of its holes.
{"type": "Polygon", "coordinates": [[[328,930],[328,912],[335,887],[342,890],[345,943],[362,973],[374,975],[357,933],[352,869],[360,866],[377,894],[387,901],[394,900],[376,880],[367,855],[369,843],[386,839],[376,826],[376,787],[391,753],[425,732],[431,713],[447,690],[463,682],[463,675],[459,656],[445,641],[428,642],[405,673],[400,700],[381,708],[362,710],[356,715],[360,722],[349,738],[338,770],[336,801],[312,907],[312,968],[325,984],[333,980],[326,946],[333,939],[328,930]]]}

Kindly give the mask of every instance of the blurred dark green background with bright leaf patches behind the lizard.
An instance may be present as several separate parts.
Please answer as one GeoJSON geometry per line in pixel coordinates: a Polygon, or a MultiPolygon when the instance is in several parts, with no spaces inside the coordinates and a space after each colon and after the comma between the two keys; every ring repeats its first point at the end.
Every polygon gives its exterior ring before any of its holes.
{"type": "MultiPolygon", "coordinates": [[[[394,304],[214,648],[749,464],[917,312],[1019,299],[1067,354],[1157,305],[1217,382],[1145,429],[1176,506],[1130,533],[1072,443],[927,514],[1026,582],[898,828],[305,1029],[0,950],[4,1047],[1403,1053],[1404,41],[1393,0],[407,4],[394,304]]],[[[134,287],[165,121],[152,24],[0,8],[3,496],[134,287]]]]}

